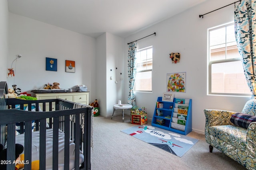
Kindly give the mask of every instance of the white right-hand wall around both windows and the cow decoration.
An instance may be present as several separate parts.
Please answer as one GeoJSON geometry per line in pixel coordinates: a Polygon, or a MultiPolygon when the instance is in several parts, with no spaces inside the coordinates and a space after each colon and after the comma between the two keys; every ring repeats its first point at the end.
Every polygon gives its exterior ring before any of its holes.
{"type": "MultiPolygon", "coordinates": [[[[138,49],[153,45],[152,93],[136,92],[136,104],[147,107],[148,118],[152,118],[158,96],[166,92],[166,74],[186,72],[186,93],[175,93],[174,97],[192,99],[192,129],[204,133],[204,109],[225,109],[242,111],[250,97],[207,95],[207,29],[233,21],[234,5],[199,18],[232,0],[208,0],[190,10],[162,21],[148,29],[125,39],[126,43],[150,35],[138,41],[138,49]],[[181,53],[180,63],[173,64],[169,58],[172,52],[181,53]]],[[[128,45],[124,47],[127,54],[128,45]]],[[[125,65],[127,61],[125,60],[125,65]]],[[[125,72],[127,67],[125,66],[125,72]]],[[[128,78],[124,80],[125,94],[128,93],[128,78]]]]}

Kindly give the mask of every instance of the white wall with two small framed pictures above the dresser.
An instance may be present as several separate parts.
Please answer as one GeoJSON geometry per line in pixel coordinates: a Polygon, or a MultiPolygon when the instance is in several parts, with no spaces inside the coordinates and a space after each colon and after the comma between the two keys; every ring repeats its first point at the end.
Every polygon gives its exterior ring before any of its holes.
{"type": "Polygon", "coordinates": [[[59,82],[65,89],[85,84],[94,100],[96,39],[9,13],[9,43],[8,67],[16,54],[22,55],[15,78],[8,78],[9,87],[17,84],[22,92],[30,92],[48,82],[59,82]],[[46,71],[46,57],[58,60],[57,72],[46,71]],[[76,62],[75,73],[65,72],[65,60],[76,62]]]}

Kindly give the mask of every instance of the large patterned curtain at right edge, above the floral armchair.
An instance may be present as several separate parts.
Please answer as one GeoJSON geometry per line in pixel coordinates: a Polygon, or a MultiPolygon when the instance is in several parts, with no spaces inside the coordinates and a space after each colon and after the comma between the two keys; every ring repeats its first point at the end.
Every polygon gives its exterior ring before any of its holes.
{"type": "Polygon", "coordinates": [[[256,1],[242,0],[235,6],[234,22],[238,51],[240,53],[244,74],[256,99],[256,1]]]}

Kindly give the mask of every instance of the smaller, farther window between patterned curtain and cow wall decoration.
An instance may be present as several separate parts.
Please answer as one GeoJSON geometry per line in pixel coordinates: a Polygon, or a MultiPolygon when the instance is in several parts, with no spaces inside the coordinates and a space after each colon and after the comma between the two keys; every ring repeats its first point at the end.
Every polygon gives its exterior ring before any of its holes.
{"type": "Polygon", "coordinates": [[[152,46],[137,50],[135,91],[152,92],[152,46]]]}

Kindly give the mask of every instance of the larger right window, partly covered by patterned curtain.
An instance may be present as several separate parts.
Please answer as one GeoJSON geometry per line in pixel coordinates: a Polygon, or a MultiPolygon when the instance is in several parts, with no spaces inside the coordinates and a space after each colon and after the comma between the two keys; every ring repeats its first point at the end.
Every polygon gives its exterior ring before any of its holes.
{"type": "Polygon", "coordinates": [[[209,94],[251,94],[234,34],[234,23],[208,30],[209,94]]]}

